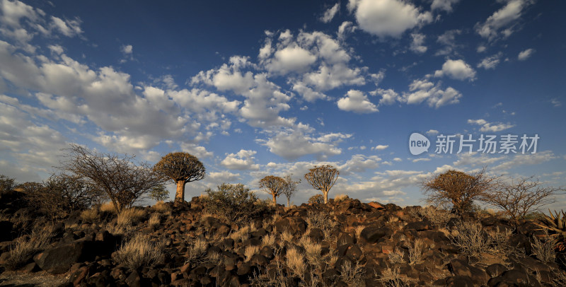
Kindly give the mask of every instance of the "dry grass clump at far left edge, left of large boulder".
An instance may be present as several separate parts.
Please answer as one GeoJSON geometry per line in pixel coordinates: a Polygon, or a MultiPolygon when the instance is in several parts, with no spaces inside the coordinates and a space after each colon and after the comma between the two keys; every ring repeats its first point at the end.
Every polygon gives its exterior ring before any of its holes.
{"type": "Polygon", "coordinates": [[[28,263],[35,253],[44,250],[50,244],[52,236],[52,226],[47,225],[41,230],[33,230],[30,235],[23,235],[14,240],[15,245],[6,259],[6,268],[14,270],[28,263]]]}

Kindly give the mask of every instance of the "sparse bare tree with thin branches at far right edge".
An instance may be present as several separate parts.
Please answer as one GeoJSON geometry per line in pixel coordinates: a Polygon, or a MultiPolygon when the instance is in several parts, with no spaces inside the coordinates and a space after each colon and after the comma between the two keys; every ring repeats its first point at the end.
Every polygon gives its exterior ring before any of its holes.
{"type": "Polygon", "coordinates": [[[500,182],[483,196],[483,201],[503,209],[514,225],[519,224],[527,214],[538,211],[542,206],[553,204],[554,195],[564,191],[562,187],[544,186],[543,182],[531,177],[511,178],[500,182]]]}

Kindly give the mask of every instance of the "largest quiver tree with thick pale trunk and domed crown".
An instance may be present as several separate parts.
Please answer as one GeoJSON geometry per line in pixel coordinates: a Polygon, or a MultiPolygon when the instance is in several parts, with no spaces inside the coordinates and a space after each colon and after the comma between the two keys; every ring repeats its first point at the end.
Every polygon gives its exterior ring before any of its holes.
{"type": "Polygon", "coordinates": [[[168,153],[154,166],[159,174],[170,178],[177,184],[175,201],[185,200],[185,185],[187,182],[202,180],[206,170],[196,156],[190,153],[168,153]]]}

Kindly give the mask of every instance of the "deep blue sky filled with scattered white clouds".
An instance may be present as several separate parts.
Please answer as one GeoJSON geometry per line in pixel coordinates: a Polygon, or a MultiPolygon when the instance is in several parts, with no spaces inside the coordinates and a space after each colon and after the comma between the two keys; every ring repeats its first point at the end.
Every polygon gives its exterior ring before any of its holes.
{"type": "MultiPolygon", "coordinates": [[[[564,8],[0,0],[0,173],[45,180],[76,143],[150,163],[194,154],[207,177],[187,199],[321,164],[340,170],[330,197],[400,206],[422,204],[419,182],[449,169],[566,185],[564,8]],[[413,132],[429,139],[418,156],[413,132]],[[507,134],[517,153],[478,151],[480,136],[507,134]],[[452,153],[435,152],[441,135],[457,136],[452,153]],[[456,153],[460,135],[472,153],[456,153]],[[521,153],[523,135],[538,135],[535,153],[521,153]]],[[[302,182],[293,201],[316,193],[302,182]]]]}

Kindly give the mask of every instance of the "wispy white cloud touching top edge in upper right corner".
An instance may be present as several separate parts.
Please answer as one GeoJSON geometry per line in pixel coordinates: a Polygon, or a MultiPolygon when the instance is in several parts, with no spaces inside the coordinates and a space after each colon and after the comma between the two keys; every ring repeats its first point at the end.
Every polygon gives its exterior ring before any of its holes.
{"type": "Polygon", "coordinates": [[[475,31],[488,40],[494,40],[499,35],[509,37],[514,32],[516,21],[521,18],[524,8],[529,6],[529,0],[510,0],[504,7],[492,14],[485,23],[477,23],[475,31]]]}

